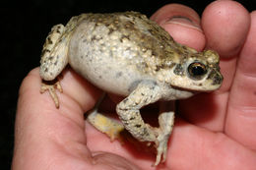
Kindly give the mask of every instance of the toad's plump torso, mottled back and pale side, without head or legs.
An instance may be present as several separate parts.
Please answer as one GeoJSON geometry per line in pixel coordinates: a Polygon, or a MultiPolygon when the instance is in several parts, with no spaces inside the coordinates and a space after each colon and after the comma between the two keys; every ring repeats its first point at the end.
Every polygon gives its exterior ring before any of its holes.
{"type": "Polygon", "coordinates": [[[156,81],[162,63],[178,50],[166,31],[139,13],[83,14],[67,27],[73,23],[70,65],[113,93],[127,95],[142,80],[156,81]]]}

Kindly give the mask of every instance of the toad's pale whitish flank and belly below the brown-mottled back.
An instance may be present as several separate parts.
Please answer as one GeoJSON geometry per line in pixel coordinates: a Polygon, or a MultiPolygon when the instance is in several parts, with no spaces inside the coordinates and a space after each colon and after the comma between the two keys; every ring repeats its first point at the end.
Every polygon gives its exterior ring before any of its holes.
{"type": "Polygon", "coordinates": [[[141,81],[152,80],[143,74],[138,65],[111,47],[71,38],[69,64],[71,67],[97,87],[120,95],[128,95],[141,81]]]}

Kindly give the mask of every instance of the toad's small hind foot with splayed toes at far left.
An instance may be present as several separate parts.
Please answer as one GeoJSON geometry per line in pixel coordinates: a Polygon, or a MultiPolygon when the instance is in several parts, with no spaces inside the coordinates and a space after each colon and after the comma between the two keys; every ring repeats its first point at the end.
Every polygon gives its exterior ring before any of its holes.
{"type": "Polygon", "coordinates": [[[43,93],[46,90],[49,91],[51,98],[53,99],[56,108],[59,108],[59,99],[58,96],[56,94],[56,90],[58,89],[60,92],[63,92],[63,89],[59,83],[59,81],[54,81],[54,82],[42,82],[41,83],[41,88],[40,88],[40,92],[43,93]]]}

